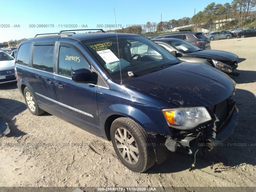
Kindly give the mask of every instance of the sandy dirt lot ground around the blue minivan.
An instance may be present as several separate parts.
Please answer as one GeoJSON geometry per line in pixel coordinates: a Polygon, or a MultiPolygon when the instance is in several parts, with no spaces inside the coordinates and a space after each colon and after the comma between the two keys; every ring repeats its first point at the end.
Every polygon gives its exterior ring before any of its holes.
{"type": "Polygon", "coordinates": [[[0,116],[11,130],[0,138],[0,186],[256,187],[256,37],[214,40],[211,46],[240,57],[240,76],[232,76],[240,119],[213,169],[211,161],[198,157],[196,169],[189,171],[194,158],[172,153],[147,172],[134,173],[108,140],[50,114],[30,114],[12,83],[0,85],[0,116]]]}

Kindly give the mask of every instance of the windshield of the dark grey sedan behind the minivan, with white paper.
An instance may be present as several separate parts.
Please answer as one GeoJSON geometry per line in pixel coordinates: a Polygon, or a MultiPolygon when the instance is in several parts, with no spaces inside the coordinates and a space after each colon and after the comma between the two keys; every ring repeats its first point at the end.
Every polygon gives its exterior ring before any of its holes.
{"type": "Polygon", "coordinates": [[[168,41],[169,44],[171,44],[173,47],[178,49],[181,53],[192,53],[197,52],[202,49],[198,48],[197,46],[194,46],[186,41],[180,40],[180,39],[172,39],[168,41]]]}

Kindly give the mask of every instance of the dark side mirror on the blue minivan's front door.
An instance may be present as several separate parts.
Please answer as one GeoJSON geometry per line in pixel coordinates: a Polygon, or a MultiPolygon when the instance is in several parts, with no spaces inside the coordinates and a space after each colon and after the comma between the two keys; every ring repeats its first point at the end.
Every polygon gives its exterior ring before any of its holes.
{"type": "Polygon", "coordinates": [[[95,84],[97,81],[94,80],[92,72],[88,69],[77,69],[71,73],[72,80],[78,83],[92,83],[95,84]]]}

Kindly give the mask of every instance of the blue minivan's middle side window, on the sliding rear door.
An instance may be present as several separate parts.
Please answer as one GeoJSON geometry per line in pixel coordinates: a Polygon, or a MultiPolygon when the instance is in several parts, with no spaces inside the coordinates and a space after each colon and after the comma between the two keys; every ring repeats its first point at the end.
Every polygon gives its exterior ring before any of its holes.
{"type": "Polygon", "coordinates": [[[54,45],[34,46],[32,67],[47,72],[53,72],[53,53],[54,45]]]}

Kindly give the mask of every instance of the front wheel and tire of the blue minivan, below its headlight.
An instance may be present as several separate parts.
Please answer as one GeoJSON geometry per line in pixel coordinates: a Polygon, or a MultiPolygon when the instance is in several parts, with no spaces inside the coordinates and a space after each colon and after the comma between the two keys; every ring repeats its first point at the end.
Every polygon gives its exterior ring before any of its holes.
{"type": "Polygon", "coordinates": [[[141,173],[155,164],[156,156],[149,135],[130,118],[114,120],[110,136],[118,158],[128,169],[141,173]]]}

